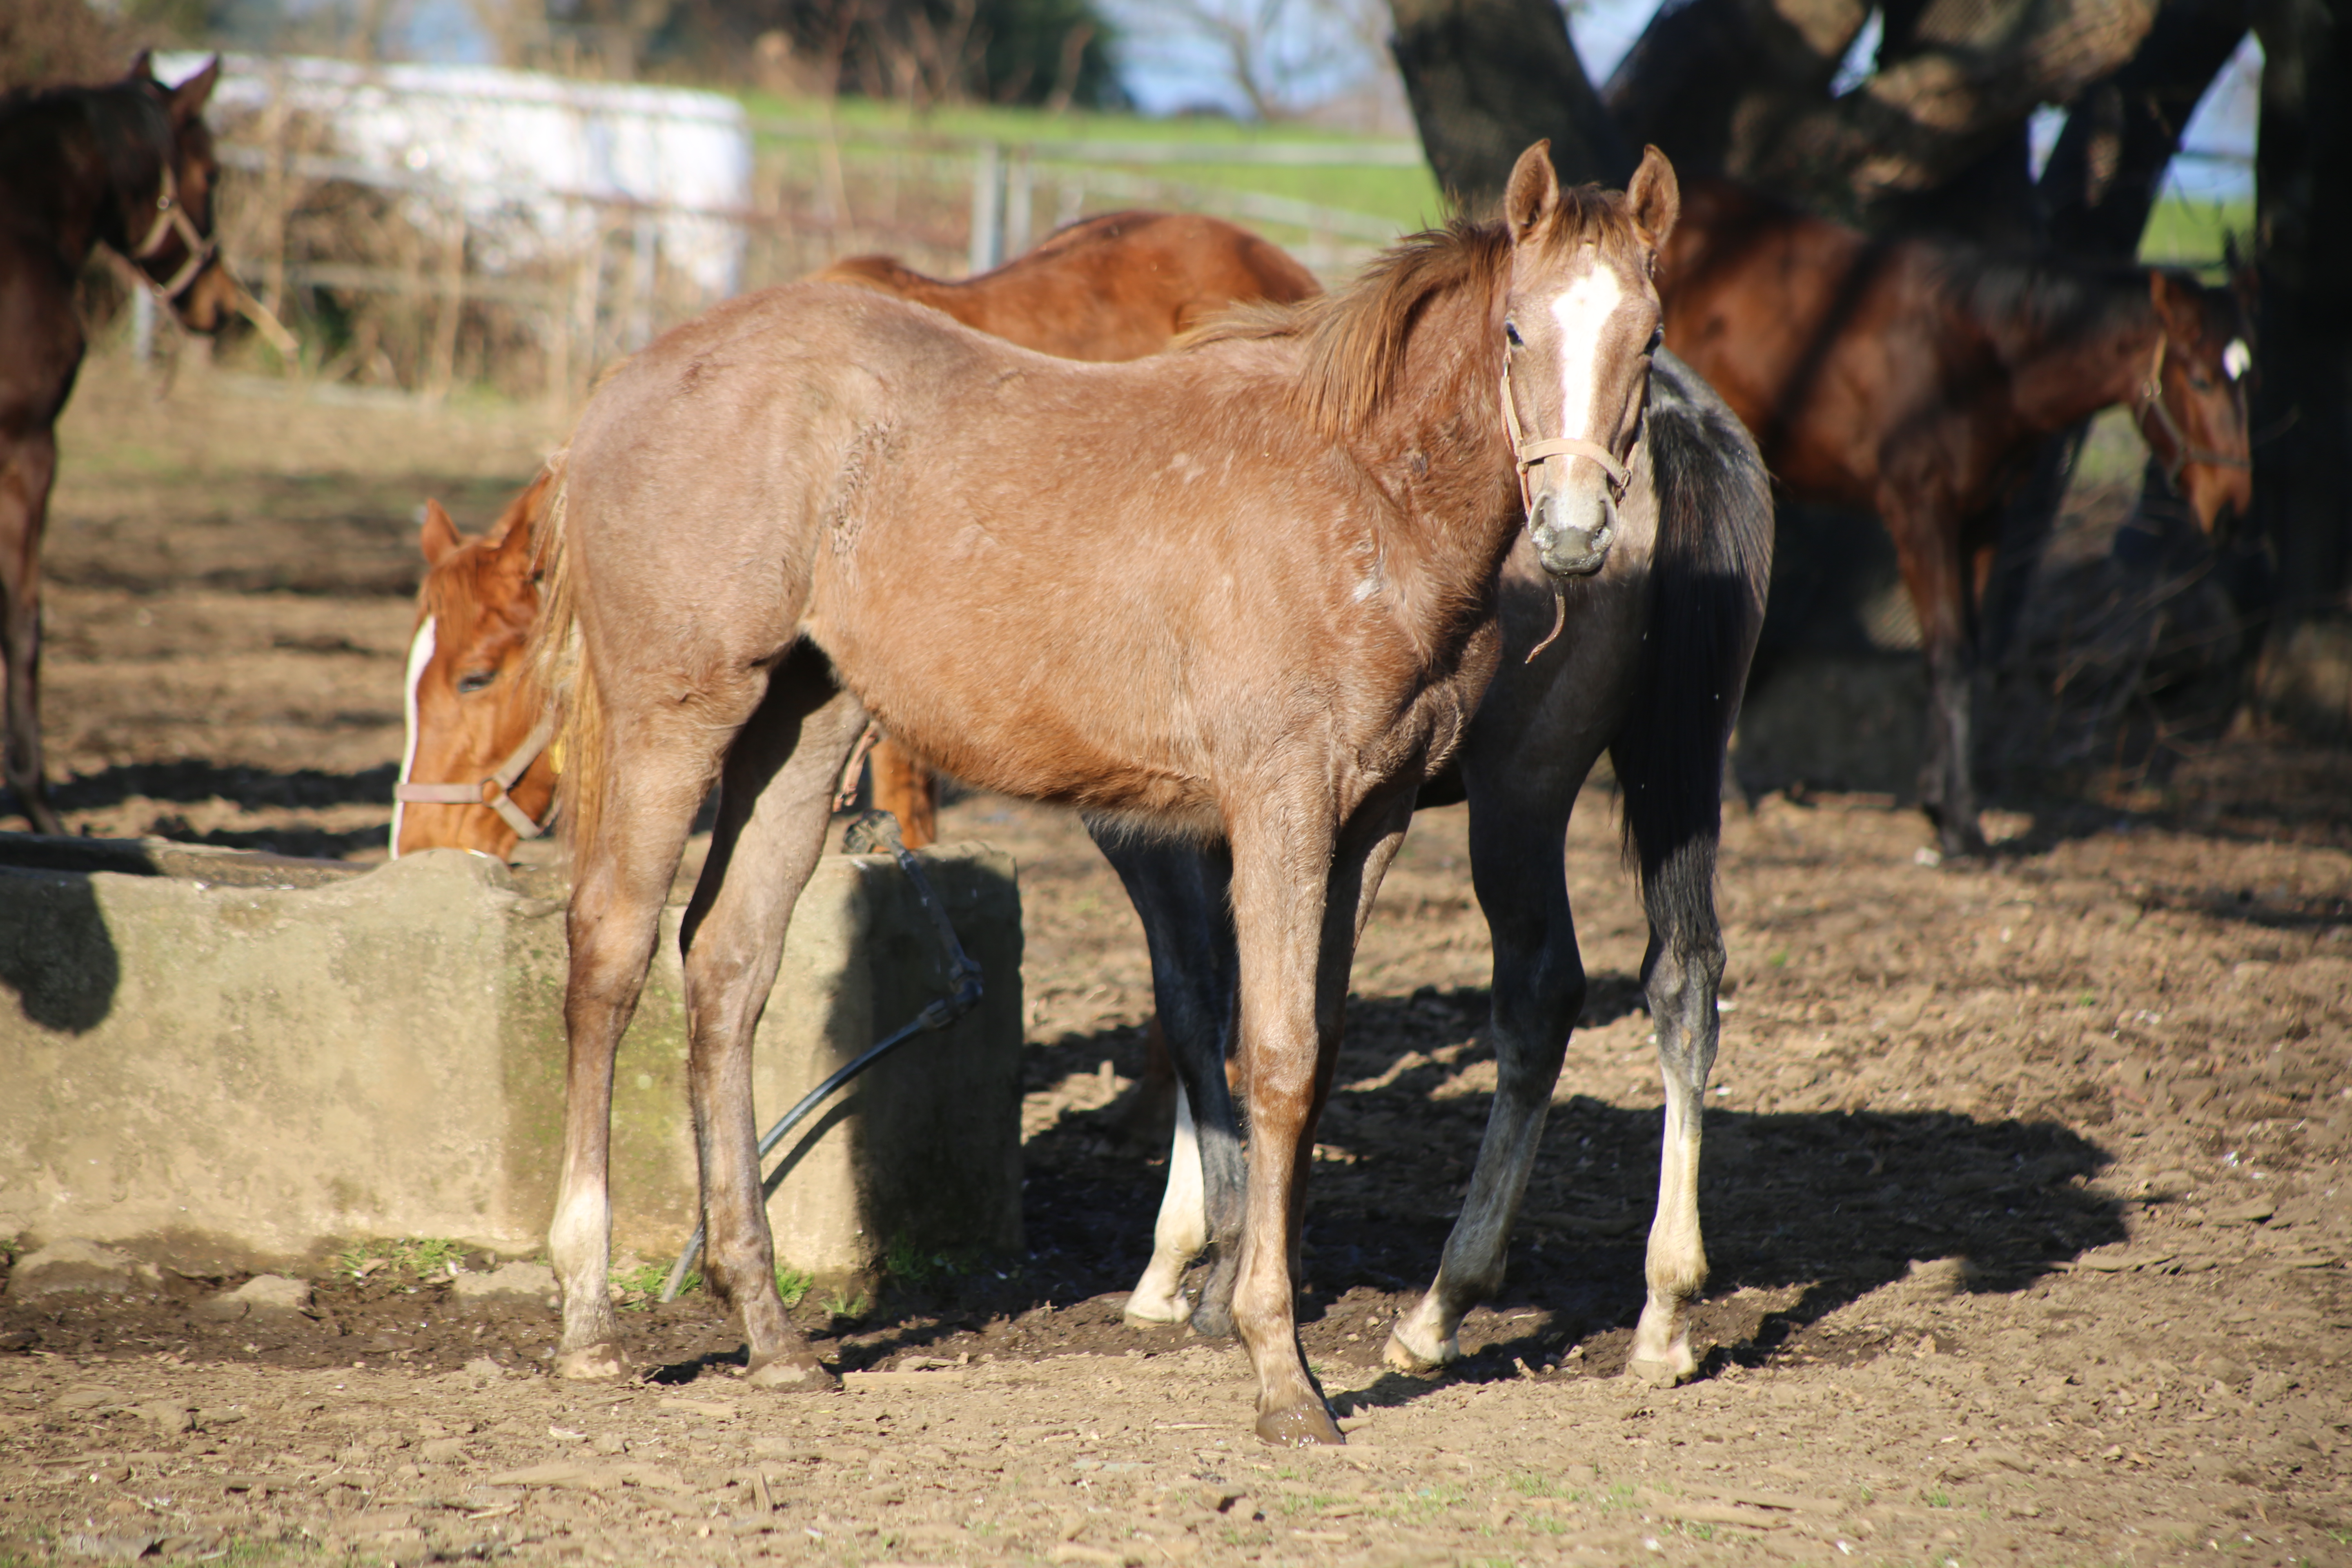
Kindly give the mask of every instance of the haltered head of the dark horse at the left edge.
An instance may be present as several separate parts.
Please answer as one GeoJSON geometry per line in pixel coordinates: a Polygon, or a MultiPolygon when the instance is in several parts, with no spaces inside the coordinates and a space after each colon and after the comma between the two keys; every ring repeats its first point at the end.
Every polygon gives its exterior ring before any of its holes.
{"type": "Polygon", "coordinates": [[[167,87],[141,54],[125,82],[155,115],[148,136],[153,162],[136,160],[139,172],[118,181],[122,254],[155,282],[191,331],[219,331],[238,308],[238,282],[212,240],[221,162],[212,153],[205,103],[219,80],[221,56],[212,56],[186,82],[167,87]]]}

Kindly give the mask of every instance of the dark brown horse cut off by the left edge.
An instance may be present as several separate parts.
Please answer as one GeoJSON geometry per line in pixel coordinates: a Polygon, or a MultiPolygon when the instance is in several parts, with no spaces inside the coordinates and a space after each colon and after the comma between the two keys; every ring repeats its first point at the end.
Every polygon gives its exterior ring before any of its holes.
{"type": "Polygon", "coordinates": [[[219,165],[205,99],[209,61],[165,87],[141,54],[108,87],[0,99],[0,665],[5,771],[35,832],[64,832],[40,762],[40,536],[56,477],[56,416],[82,369],[73,280],[106,244],[183,324],[216,331],[238,287],[212,244],[219,165]]]}

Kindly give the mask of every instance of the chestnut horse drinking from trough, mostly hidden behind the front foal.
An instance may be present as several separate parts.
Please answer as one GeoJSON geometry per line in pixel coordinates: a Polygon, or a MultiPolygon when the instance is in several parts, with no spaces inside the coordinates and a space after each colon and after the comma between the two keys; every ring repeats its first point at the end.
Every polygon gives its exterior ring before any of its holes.
{"type": "MultiPolygon", "coordinates": [[[[1322,292],[1312,273],[1247,228],[1171,212],[1070,223],[962,282],[924,277],[889,256],[837,261],[816,280],[896,294],[1009,343],[1098,362],[1160,353],[1235,301],[1287,306],[1322,292]]],[[[426,503],[430,569],[416,595],[393,856],[477,849],[506,858],[546,827],[555,769],[546,741],[534,743],[543,701],[522,658],[539,621],[532,522],[543,491],[546,475],[482,541],[459,538],[440,503],[426,503]]],[[[889,741],[870,762],[875,804],[898,816],[908,846],[929,844],[938,820],[929,769],[889,741]]]]}

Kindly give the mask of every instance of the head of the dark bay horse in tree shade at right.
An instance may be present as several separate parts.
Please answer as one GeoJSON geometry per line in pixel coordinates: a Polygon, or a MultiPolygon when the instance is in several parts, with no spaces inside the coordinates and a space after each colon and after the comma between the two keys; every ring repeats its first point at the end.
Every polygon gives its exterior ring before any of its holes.
{"type": "Polygon", "coordinates": [[[2150,273],[2147,292],[2161,334],[2131,414],[2197,527],[2213,534],[2253,505],[2246,317],[2234,292],[2178,273],[2150,273]]]}

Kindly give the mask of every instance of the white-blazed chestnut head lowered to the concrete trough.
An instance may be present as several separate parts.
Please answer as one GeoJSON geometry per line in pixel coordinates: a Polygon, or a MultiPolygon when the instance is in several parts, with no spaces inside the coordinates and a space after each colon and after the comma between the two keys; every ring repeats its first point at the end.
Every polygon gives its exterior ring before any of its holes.
{"type": "Polygon", "coordinates": [[[548,475],[508,503],[485,538],[461,538],[449,512],[426,501],[409,642],[407,755],[393,790],[393,858],[419,849],[513,853],[522,830],[546,825],[555,762],[541,733],[546,701],[524,644],[539,621],[532,520],[548,475]]]}

